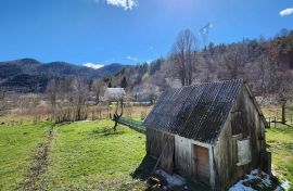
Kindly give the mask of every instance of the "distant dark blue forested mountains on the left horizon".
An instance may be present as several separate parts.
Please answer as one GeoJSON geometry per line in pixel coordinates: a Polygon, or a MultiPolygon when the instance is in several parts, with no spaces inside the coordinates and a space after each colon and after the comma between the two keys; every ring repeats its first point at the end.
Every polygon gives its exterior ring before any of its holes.
{"type": "Polygon", "coordinates": [[[66,62],[41,63],[34,59],[0,62],[0,87],[20,91],[43,91],[51,78],[79,77],[86,80],[116,74],[125,65],[114,63],[93,69],[66,62]]]}

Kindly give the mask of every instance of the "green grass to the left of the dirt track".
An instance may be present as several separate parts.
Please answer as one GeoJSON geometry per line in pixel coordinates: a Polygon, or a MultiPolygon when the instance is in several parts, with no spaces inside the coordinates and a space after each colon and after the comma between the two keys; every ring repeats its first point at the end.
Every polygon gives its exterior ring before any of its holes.
{"type": "Polygon", "coordinates": [[[23,181],[30,157],[42,142],[49,124],[0,127],[0,190],[23,181]]]}

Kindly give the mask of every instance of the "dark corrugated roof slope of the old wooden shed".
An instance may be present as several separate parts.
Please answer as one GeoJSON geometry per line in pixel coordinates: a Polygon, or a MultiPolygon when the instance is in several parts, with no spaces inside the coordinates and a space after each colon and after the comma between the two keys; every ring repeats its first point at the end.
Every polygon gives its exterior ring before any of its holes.
{"type": "Polygon", "coordinates": [[[243,80],[237,79],[165,91],[144,126],[213,143],[242,85],[243,80]]]}

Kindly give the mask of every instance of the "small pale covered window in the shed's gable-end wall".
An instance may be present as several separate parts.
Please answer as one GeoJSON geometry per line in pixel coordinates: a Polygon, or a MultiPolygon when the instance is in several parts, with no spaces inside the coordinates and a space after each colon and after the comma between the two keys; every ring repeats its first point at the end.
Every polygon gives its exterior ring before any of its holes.
{"type": "Polygon", "coordinates": [[[251,141],[250,138],[237,141],[238,145],[238,164],[246,165],[252,161],[251,141]]]}

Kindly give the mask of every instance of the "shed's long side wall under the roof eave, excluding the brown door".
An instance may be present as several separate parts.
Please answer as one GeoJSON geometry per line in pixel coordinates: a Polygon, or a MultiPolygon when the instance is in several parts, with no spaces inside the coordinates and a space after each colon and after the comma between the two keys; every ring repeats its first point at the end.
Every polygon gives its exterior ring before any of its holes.
{"type": "MultiPolygon", "coordinates": [[[[191,179],[198,179],[199,177],[196,177],[198,171],[195,168],[195,147],[206,148],[208,151],[208,157],[211,157],[212,160],[212,156],[209,156],[212,152],[209,144],[182,138],[177,135],[173,136],[161,130],[146,128],[146,153],[150,156],[158,158],[164,150],[160,167],[167,170],[168,173],[173,173],[174,170],[176,170],[176,173],[178,173],[179,175],[189,177],[191,179]]],[[[209,168],[213,164],[211,160],[207,160],[205,165],[209,168]]],[[[211,175],[214,174],[213,168],[211,168],[211,173],[207,173],[209,176],[212,176],[212,179],[208,181],[213,183],[214,176],[211,175]]],[[[206,181],[205,183],[212,184],[208,181],[206,181]]]]}

